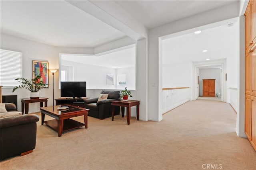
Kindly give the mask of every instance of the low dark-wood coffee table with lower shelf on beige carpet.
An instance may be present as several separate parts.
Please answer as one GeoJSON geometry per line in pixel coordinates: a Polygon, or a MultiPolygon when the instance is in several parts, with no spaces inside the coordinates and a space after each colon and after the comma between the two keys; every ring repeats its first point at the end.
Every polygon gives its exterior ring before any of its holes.
{"type": "Polygon", "coordinates": [[[42,125],[45,123],[52,129],[58,132],[58,137],[61,137],[63,131],[68,131],[71,129],[76,129],[78,127],[85,126],[87,129],[87,117],[89,109],[82,107],[71,106],[71,105],[58,105],[50,107],[40,107],[42,125]],[[68,106],[68,109],[58,109],[57,107],[68,106]],[[44,116],[49,115],[54,119],[49,121],[44,121],[44,116]],[[84,115],[84,123],[70,119],[71,117],[77,117],[84,115]]]}

